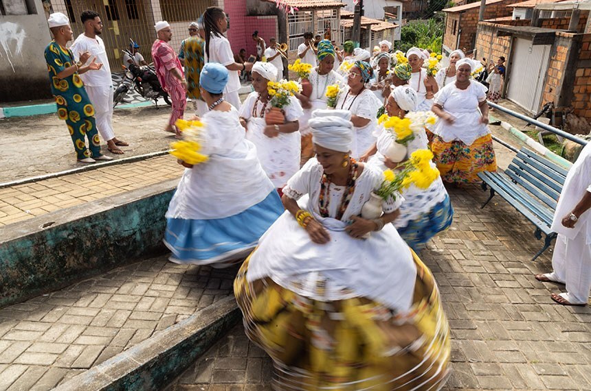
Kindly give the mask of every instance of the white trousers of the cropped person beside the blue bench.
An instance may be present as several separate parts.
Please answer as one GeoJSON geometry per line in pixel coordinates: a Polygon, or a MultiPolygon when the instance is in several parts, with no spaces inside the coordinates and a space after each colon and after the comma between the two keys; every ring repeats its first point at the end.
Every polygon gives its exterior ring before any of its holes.
{"type": "Polygon", "coordinates": [[[575,239],[558,234],[552,257],[550,278],[566,283],[563,295],[572,304],[587,303],[591,290],[591,244],[586,244],[586,230],[575,239]]]}

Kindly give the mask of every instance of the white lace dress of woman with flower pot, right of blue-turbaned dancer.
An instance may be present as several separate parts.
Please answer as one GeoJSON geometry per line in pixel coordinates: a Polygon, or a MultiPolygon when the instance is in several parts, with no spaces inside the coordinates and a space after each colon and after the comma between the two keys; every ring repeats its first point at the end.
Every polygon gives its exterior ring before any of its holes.
{"type": "MultiPolygon", "coordinates": [[[[258,102],[258,93],[252,92],[243,102],[240,117],[247,120],[246,138],[256,146],[260,165],[269,176],[273,185],[280,189],[287,180],[300,169],[300,132],[280,133],[277,137],[267,137],[265,130],[265,108],[258,102]]],[[[267,104],[267,108],[271,106],[267,104]]],[[[300,101],[291,97],[290,104],[283,108],[285,121],[298,121],[303,115],[300,101]]]]}

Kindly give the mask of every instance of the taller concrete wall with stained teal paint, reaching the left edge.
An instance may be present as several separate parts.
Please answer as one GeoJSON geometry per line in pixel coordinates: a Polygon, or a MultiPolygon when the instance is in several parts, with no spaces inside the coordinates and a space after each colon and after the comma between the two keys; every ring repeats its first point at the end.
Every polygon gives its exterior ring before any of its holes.
{"type": "Polygon", "coordinates": [[[73,206],[0,230],[0,307],[164,253],[164,214],[178,179],[73,206]]]}

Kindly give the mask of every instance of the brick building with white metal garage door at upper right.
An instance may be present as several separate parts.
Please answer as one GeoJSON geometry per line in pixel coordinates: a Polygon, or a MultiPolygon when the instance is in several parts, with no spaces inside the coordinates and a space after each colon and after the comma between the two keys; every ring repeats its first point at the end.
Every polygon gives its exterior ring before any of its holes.
{"type": "MultiPolygon", "coordinates": [[[[504,97],[531,113],[553,102],[558,117],[572,110],[591,121],[591,3],[586,6],[574,20],[563,16],[478,23],[478,58],[507,60],[504,97]]],[[[542,10],[534,11],[539,16],[542,10]]]]}

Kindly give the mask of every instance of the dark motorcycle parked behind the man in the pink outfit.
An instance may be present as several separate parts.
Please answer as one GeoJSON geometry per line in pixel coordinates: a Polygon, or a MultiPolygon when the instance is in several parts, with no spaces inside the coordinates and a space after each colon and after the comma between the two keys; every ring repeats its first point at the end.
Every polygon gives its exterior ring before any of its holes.
{"type": "MultiPolygon", "coordinates": [[[[122,50],[122,52],[133,58],[131,51],[122,50]]],[[[168,97],[168,93],[166,93],[160,85],[156,76],[156,71],[153,67],[149,65],[140,67],[137,64],[129,64],[127,67],[124,67],[124,69],[124,78],[117,88],[115,88],[115,93],[113,93],[113,108],[123,102],[124,97],[132,86],[135,92],[142,97],[152,99],[156,103],[156,106],[158,106],[159,97],[162,97],[168,106],[172,105],[170,97],[168,97]]]]}

